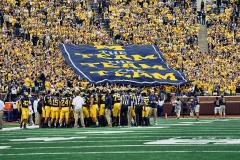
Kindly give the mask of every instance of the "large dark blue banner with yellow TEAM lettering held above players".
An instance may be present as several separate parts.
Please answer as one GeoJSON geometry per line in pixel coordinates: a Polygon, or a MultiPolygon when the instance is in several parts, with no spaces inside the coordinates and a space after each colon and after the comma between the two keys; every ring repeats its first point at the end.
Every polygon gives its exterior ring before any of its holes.
{"type": "Polygon", "coordinates": [[[88,46],[60,44],[67,62],[92,83],[181,85],[184,75],[170,68],[154,45],[88,46]]]}

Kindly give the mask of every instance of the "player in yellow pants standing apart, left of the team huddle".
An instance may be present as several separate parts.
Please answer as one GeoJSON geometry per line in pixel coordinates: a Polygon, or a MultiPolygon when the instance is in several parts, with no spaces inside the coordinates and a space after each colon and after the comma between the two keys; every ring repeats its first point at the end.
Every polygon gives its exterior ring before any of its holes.
{"type": "Polygon", "coordinates": [[[29,108],[31,106],[31,102],[28,97],[28,92],[24,92],[23,98],[20,99],[19,102],[20,109],[21,109],[21,122],[20,122],[20,128],[26,129],[26,125],[28,122],[28,117],[29,117],[29,108]]]}

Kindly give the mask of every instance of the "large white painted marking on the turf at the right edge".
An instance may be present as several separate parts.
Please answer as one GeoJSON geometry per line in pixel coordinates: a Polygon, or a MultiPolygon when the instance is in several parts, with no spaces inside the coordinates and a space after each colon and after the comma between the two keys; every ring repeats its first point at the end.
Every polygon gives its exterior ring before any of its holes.
{"type": "Polygon", "coordinates": [[[211,138],[203,138],[203,137],[195,137],[192,139],[182,139],[181,137],[177,138],[169,138],[169,139],[162,139],[156,141],[145,142],[146,145],[201,145],[201,144],[240,144],[240,139],[231,139],[231,138],[224,138],[219,139],[216,137],[211,138]]]}

